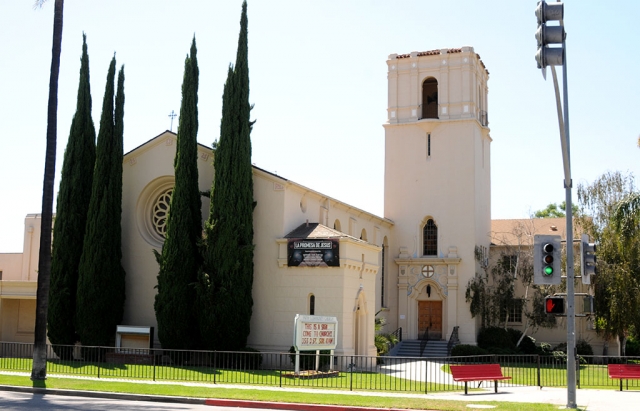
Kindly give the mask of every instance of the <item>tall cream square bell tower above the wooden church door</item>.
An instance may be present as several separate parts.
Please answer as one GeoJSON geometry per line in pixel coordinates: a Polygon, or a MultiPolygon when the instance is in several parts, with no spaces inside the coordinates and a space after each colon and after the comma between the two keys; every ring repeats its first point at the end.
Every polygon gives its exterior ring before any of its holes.
{"type": "Polygon", "coordinates": [[[388,319],[408,339],[458,327],[473,343],[464,295],[490,244],[489,72],[473,47],[392,54],[387,66],[384,216],[398,285],[388,319]]]}

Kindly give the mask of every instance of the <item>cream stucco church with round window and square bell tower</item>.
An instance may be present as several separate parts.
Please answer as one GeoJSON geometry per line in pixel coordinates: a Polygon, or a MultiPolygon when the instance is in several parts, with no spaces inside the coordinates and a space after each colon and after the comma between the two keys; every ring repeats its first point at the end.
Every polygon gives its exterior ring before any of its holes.
{"type": "MultiPolygon", "coordinates": [[[[320,315],[338,320],[336,354],[375,355],[378,312],[404,339],[447,340],[458,327],[475,344],[465,290],[492,243],[489,72],[473,47],[392,54],[387,67],[384,216],[253,168],[250,347],[286,351],[296,314],[320,315]]],[[[157,327],[152,250],[164,241],[176,138],[165,131],[124,155],[123,325],[157,327]]],[[[198,153],[206,191],[215,152],[198,153]]],[[[203,221],[208,210],[203,198],[203,221]]],[[[39,222],[27,215],[22,254],[0,254],[0,341],[33,341],[39,222]]]]}

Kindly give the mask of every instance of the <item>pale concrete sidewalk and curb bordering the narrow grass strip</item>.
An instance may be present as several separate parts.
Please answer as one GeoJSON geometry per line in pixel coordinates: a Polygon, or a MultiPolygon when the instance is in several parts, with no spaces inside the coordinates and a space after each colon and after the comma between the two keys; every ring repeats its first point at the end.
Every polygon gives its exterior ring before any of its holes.
{"type": "MultiPolygon", "coordinates": [[[[5,374],[5,373],[3,373],[5,374]]],[[[24,375],[26,373],[6,373],[11,375],[24,375]]],[[[50,375],[54,378],[65,378],[65,376],[50,375]]],[[[75,377],[66,377],[74,378],[75,377]]],[[[89,378],[95,379],[95,378],[89,378]]],[[[135,384],[175,384],[183,386],[203,386],[209,388],[235,388],[235,389],[247,389],[247,390],[265,390],[274,392],[308,392],[308,393],[331,393],[341,395],[360,395],[360,396],[374,396],[374,397],[410,397],[421,398],[425,400],[425,406],[428,407],[428,401],[430,399],[444,399],[452,401],[463,401],[466,404],[482,404],[486,401],[507,401],[507,402],[521,402],[521,403],[547,403],[556,404],[558,407],[564,408],[567,404],[567,389],[566,388],[538,388],[538,387],[499,387],[498,393],[493,392],[493,388],[482,389],[478,391],[471,391],[469,395],[464,395],[463,391],[447,392],[447,393],[434,393],[434,394],[410,394],[410,393],[392,393],[392,392],[372,392],[372,391],[344,391],[344,390],[323,390],[323,389],[308,389],[308,388],[292,388],[292,387],[265,387],[265,386],[247,386],[236,384],[202,384],[202,383],[169,383],[152,382],[152,381],[131,381],[124,380],[128,383],[135,384]]],[[[77,395],[77,396],[89,396],[100,398],[113,398],[113,399],[127,399],[127,400],[140,400],[140,401],[173,401],[184,402],[191,404],[207,404],[215,406],[228,406],[228,407],[247,407],[258,409],[288,409],[288,410],[305,410],[305,411],[347,411],[347,410],[377,410],[376,408],[359,408],[359,407],[345,407],[345,406],[329,406],[329,405],[310,405],[310,404],[282,404],[282,403],[269,403],[262,401],[245,401],[245,400],[226,400],[226,399],[196,399],[196,398],[184,398],[184,397],[164,397],[164,396],[152,396],[152,395],[137,395],[137,394],[119,394],[119,393],[102,393],[95,391],[70,391],[70,390],[56,390],[56,389],[42,389],[32,387],[9,387],[0,386],[0,390],[10,390],[19,392],[32,392],[32,393],[47,393],[53,395],[77,395]]],[[[576,392],[576,402],[580,408],[587,411],[610,411],[615,409],[616,411],[637,411],[640,409],[640,391],[616,391],[616,390],[590,390],[590,389],[578,389],[576,392]]],[[[473,407],[469,407],[473,409],[473,407]]],[[[478,407],[480,408],[480,407],[478,407]]],[[[380,409],[382,410],[382,409],[380,409]]],[[[385,408],[384,411],[390,411],[385,408]]]]}

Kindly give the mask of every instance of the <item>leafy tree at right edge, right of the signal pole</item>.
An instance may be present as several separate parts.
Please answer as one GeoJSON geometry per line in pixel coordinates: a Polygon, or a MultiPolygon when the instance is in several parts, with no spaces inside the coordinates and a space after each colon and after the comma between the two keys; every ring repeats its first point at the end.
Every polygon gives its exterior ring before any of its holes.
{"type": "Polygon", "coordinates": [[[618,171],[578,186],[577,224],[598,244],[596,327],[605,340],[618,338],[621,355],[630,331],[640,326],[640,230],[633,212],[637,196],[633,175],[618,171]]]}

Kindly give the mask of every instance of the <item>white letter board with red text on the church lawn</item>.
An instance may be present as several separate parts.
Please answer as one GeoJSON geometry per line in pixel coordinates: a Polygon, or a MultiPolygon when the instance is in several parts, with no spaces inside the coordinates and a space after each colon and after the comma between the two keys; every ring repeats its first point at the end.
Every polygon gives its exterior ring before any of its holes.
{"type": "Polygon", "coordinates": [[[337,343],[336,317],[296,314],[293,341],[296,350],[335,350],[337,343]]]}

